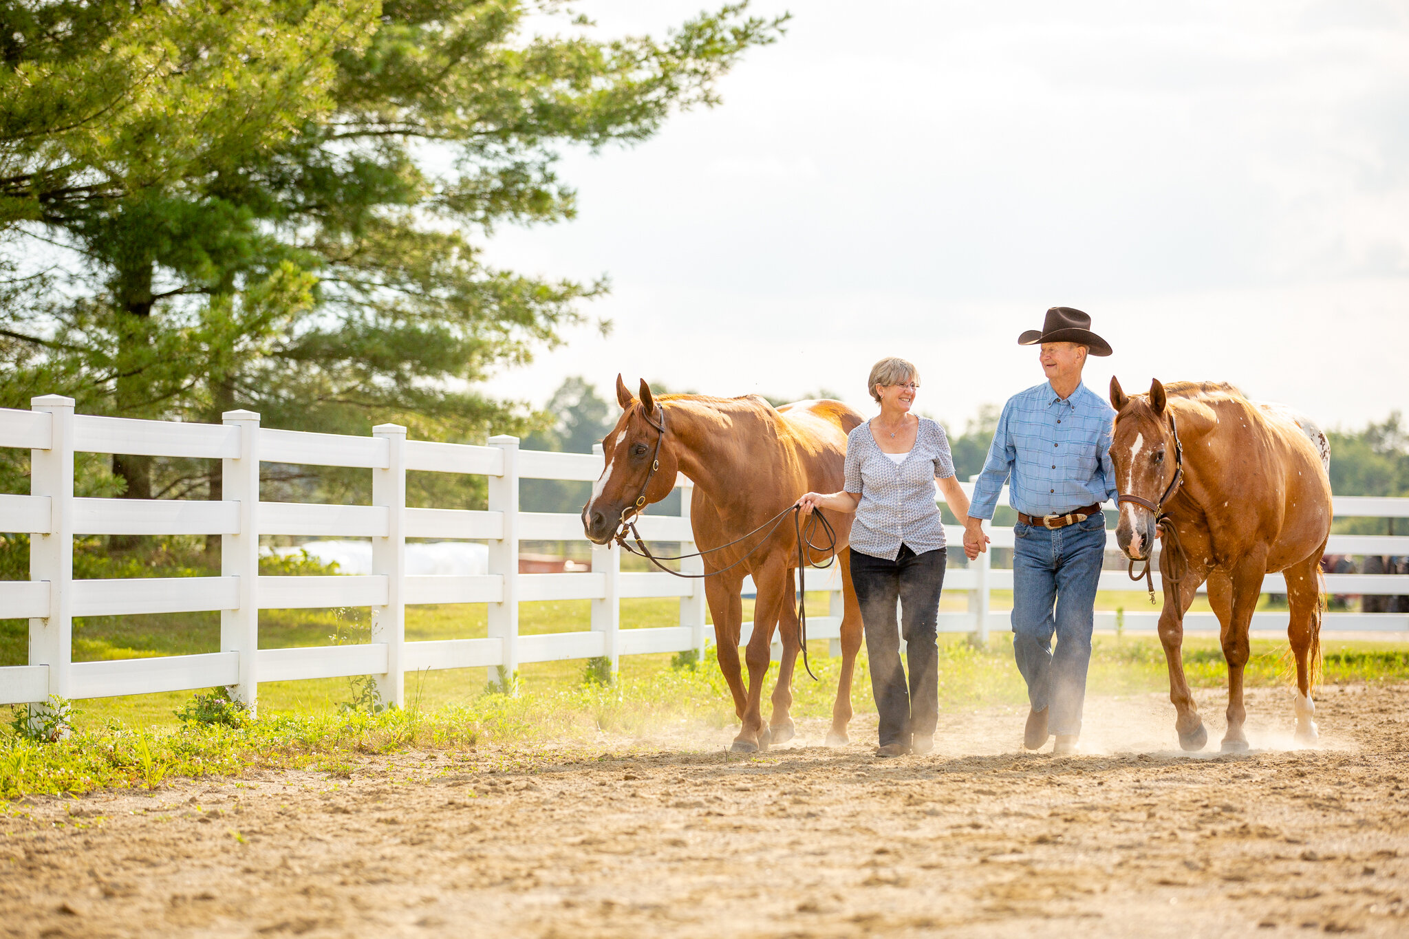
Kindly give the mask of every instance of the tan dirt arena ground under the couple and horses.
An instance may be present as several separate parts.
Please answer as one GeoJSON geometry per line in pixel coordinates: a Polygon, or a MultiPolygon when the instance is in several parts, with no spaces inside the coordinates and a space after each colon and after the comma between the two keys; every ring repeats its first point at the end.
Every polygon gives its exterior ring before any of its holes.
{"type": "MultiPolygon", "coordinates": [[[[1023,714],[874,725],[751,760],[728,733],[369,759],[3,821],[13,936],[1409,935],[1409,687],[1327,687],[1323,746],[1251,694],[1250,755],[1174,748],[1157,695],[1088,702],[1088,753],[1023,714]],[[862,741],[865,743],[862,743],[862,741]]],[[[1203,693],[1210,749],[1223,695],[1203,693]]]]}

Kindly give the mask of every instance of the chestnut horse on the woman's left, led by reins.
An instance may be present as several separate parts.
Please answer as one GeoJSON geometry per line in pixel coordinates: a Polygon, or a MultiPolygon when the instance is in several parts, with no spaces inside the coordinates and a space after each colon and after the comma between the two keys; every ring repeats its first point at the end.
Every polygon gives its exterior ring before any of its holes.
{"type": "MultiPolygon", "coordinates": [[[[617,376],[621,417],[602,442],[606,466],[582,508],[589,539],[606,545],[623,514],[669,496],[675,473],[695,481],[690,527],[704,553],[704,597],[714,618],[719,669],[734,694],[743,726],[733,749],[752,753],[793,736],[792,673],[802,649],[793,608],[797,536],[790,518],[772,529],[728,545],[785,512],[803,493],[841,489],[847,434],[862,417],[840,401],[799,401],[774,408],[757,396],[713,398],[699,394],[655,397],[641,382],[637,400],[617,376]],[[664,431],[662,431],[664,428],[664,431]],[[654,456],[652,456],[654,455],[654,456]],[[657,467],[652,467],[655,463],[657,467]],[[644,501],[638,501],[644,498],[644,501]],[[745,557],[747,555],[747,557],[745,557]],[[744,574],[758,587],[754,635],[748,641],[748,687],[738,667],[743,628],[740,588],[744,574]],[[774,712],[764,726],[762,681],[768,672],[774,626],[779,626],[783,656],[774,688],[774,712]]],[[[851,721],[851,673],[861,648],[861,608],[851,588],[844,550],[851,515],[823,512],[837,535],[844,615],[841,618],[841,679],[831,708],[828,745],[847,742],[851,721]]],[[[807,552],[809,563],[826,563],[827,552],[807,552]]]]}

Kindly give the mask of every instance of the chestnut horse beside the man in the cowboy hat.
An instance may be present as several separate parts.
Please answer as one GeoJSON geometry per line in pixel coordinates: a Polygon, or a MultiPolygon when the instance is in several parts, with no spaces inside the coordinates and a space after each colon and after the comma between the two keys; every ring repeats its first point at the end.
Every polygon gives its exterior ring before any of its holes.
{"type": "Polygon", "coordinates": [[[1116,541],[1137,562],[1150,557],[1157,529],[1164,539],[1160,641],[1169,666],[1169,700],[1178,710],[1179,745],[1199,750],[1209,738],[1181,655],[1184,614],[1195,591],[1208,580],[1229,664],[1223,750],[1246,750],[1248,626],[1262,576],[1278,570],[1286,577],[1291,607],[1286,636],[1296,659],[1296,739],[1313,742],[1320,559],[1332,519],[1326,435],[1285,408],[1248,401],[1230,384],[1155,380],[1148,394],[1126,397],[1112,379],[1110,403],[1117,411],[1110,445],[1120,490],[1116,541]]]}

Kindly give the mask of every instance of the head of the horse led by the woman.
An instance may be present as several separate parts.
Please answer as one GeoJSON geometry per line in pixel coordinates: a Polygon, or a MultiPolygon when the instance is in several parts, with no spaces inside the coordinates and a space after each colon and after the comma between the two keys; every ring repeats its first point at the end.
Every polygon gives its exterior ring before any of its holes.
{"type": "Polygon", "coordinates": [[[621,417],[602,441],[606,465],[582,507],[582,529],[597,545],[609,543],[624,518],[669,496],[679,470],[665,408],[651,386],[643,379],[635,398],[617,374],[617,403],[621,417]]]}

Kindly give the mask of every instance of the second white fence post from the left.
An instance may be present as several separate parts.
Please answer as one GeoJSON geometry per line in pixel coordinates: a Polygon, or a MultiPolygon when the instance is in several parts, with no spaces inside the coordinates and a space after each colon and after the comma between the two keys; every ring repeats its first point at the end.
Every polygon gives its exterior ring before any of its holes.
{"type": "Polygon", "coordinates": [[[240,655],[232,697],[251,711],[259,707],[259,415],[225,411],[227,427],[240,428],[240,456],[224,458],[224,500],[235,503],[238,528],[220,536],[220,574],[238,579],[240,607],[220,611],[220,649],[240,655]]]}

